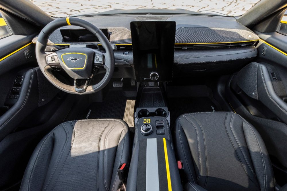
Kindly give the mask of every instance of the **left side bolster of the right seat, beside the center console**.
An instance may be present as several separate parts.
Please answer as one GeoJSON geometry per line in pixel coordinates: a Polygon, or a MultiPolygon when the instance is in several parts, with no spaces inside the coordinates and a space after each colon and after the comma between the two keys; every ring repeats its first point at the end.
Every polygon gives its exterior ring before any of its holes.
{"type": "MultiPolygon", "coordinates": [[[[195,175],[195,169],[193,166],[193,159],[189,149],[189,144],[187,143],[187,137],[183,131],[183,127],[180,122],[184,115],[180,116],[176,120],[175,128],[175,152],[177,153],[177,160],[183,161],[184,175],[187,182],[197,183],[197,178],[195,175]]],[[[190,126],[190,124],[187,124],[190,126]]]]}

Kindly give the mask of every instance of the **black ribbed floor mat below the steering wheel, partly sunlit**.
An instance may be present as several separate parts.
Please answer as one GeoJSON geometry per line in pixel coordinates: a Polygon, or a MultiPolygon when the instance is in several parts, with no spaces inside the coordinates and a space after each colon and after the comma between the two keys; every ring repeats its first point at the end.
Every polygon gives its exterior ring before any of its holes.
{"type": "Polygon", "coordinates": [[[90,104],[79,119],[123,119],[129,127],[134,127],[133,110],[135,98],[128,98],[122,91],[109,91],[103,102],[90,104]]]}

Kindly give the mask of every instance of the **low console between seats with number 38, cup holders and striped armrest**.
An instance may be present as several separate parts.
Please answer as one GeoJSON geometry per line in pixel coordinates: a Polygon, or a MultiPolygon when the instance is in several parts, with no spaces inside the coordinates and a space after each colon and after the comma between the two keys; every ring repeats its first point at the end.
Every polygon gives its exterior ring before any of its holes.
{"type": "Polygon", "coordinates": [[[127,190],[181,191],[162,85],[142,83],[135,107],[135,137],[127,190]]]}

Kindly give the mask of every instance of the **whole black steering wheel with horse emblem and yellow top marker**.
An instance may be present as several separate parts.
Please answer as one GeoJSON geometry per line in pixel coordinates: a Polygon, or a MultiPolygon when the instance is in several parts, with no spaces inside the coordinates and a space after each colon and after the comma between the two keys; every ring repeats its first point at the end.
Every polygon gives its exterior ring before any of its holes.
{"type": "Polygon", "coordinates": [[[93,24],[74,17],[56,19],[46,25],[40,32],[36,42],[36,59],[44,76],[57,88],[73,94],[90,94],[101,90],[112,78],[115,68],[115,56],[106,36],[93,24]],[[75,25],[85,28],[99,39],[105,53],[91,48],[65,48],[46,54],[45,48],[49,35],[57,28],[75,25]],[[62,68],[74,79],[74,85],[59,81],[52,73],[53,68],[62,68]],[[96,69],[104,68],[104,78],[95,85],[89,85],[96,69]]]}

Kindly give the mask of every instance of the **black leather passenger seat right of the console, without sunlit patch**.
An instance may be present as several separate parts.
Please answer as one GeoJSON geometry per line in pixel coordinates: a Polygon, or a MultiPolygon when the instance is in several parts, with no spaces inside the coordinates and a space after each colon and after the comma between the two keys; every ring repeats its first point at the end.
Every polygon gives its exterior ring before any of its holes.
{"type": "Polygon", "coordinates": [[[272,165],[257,130],[231,112],[184,114],[176,150],[186,190],[274,190],[272,165]]]}

